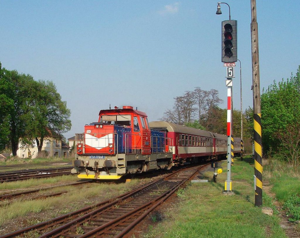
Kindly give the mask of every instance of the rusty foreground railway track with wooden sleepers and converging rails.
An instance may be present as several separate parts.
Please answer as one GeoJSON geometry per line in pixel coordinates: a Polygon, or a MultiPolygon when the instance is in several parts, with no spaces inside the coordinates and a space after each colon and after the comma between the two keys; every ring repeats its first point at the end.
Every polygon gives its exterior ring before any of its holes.
{"type": "Polygon", "coordinates": [[[119,197],[26,227],[0,238],[16,237],[31,230],[39,231],[42,234],[40,237],[124,237],[204,166],[177,170],[119,197]],[[54,226],[56,228],[49,231],[49,228],[54,226]]]}

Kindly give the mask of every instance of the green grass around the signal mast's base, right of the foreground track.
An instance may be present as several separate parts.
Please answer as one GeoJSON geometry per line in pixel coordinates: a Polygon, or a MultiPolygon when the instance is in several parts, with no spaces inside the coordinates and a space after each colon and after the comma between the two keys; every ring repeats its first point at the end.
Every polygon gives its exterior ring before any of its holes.
{"type": "MultiPolygon", "coordinates": [[[[163,221],[152,219],[144,237],[286,237],[277,215],[266,215],[261,207],[254,206],[252,161],[235,160],[231,167],[234,195],[223,194],[226,162],[220,166],[224,172],[218,174],[216,183],[192,183],[178,191],[179,203],[167,210],[163,221]]],[[[213,172],[204,176],[211,181],[213,172]]],[[[276,210],[266,194],[263,206],[276,210]]]]}

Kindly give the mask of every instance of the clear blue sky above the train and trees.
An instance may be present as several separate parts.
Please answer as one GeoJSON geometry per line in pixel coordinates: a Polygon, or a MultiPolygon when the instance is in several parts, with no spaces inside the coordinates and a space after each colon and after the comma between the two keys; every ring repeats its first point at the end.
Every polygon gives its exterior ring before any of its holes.
{"type": "MultiPolygon", "coordinates": [[[[251,9],[226,1],[238,21],[244,109],[252,107],[251,9]]],[[[71,131],[98,120],[101,109],[138,107],[149,121],[195,87],[217,89],[226,102],[217,1],[0,1],[0,61],[8,70],[52,80],[71,110],[71,131]]],[[[289,78],[300,65],[295,1],[256,1],[260,86],[289,78]]],[[[239,64],[233,82],[240,109],[239,64]]],[[[226,108],[226,104],[221,105],[226,108]]]]}

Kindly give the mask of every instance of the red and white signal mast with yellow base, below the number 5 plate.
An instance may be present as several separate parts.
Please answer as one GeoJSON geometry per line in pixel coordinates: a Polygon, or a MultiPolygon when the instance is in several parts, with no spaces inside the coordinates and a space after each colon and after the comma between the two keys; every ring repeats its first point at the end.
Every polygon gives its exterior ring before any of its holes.
{"type": "Polygon", "coordinates": [[[227,78],[227,180],[225,181],[225,192],[232,192],[231,183],[231,95],[232,95],[232,78],[227,78]]]}

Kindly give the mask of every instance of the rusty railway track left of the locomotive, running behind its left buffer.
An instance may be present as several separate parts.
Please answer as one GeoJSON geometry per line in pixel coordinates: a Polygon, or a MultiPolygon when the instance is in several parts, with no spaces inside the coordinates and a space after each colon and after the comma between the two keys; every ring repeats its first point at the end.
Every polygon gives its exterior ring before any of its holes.
{"type": "Polygon", "coordinates": [[[11,172],[11,173],[1,173],[0,182],[10,182],[24,179],[32,178],[46,178],[55,177],[60,175],[71,174],[71,169],[73,167],[56,168],[56,169],[40,169],[34,171],[25,172],[11,172]]]}

